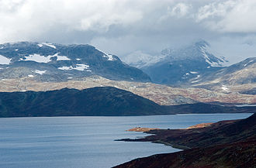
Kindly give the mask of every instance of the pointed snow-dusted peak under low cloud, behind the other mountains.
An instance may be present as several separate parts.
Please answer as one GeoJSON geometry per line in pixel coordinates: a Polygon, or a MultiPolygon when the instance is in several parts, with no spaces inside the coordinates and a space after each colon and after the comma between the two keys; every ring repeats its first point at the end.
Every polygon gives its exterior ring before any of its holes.
{"type": "Polygon", "coordinates": [[[190,46],[162,50],[154,61],[149,57],[149,63],[147,59],[139,59],[137,64],[142,62],[144,66],[137,67],[158,84],[194,84],[202,74],[220,70],[227,63],[224,57],[216,57],[210,50],[209,43],[200,40],[190,46]]]}

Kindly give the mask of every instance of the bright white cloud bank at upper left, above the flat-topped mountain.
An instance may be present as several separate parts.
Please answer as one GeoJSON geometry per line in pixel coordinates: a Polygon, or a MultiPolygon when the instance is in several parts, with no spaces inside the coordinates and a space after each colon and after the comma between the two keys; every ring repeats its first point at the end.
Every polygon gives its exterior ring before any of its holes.
{"type": "Polygon", "coordinates": [[[143,18],[127,0],[1,0],[0,41],[31,39],[60,28],[65,32],[106,33],[109,26],[128,26],[143,18]]]}

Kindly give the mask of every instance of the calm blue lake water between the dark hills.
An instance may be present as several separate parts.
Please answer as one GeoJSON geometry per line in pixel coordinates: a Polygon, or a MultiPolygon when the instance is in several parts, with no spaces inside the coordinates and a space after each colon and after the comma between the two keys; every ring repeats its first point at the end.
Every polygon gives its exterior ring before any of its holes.
{"type": "Polygon", "coordinates": [[[116,142],[147,134],[133,127],[183,129],[251,114],[139,117],[0,118],[1,168],[104,168],[178,149],[150,142],[116,142]]]}

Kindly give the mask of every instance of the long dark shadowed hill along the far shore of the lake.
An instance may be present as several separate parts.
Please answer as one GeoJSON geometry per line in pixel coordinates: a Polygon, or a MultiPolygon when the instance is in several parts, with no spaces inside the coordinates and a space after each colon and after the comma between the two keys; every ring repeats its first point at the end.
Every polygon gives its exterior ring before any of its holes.
{"type": "Polygon", "coordinates": [[[256,112],[255,107],[202,103],[163,106],[116,87],[85,90],[0,92],[0,117],[171,115],[183,113],[256,112]]]}

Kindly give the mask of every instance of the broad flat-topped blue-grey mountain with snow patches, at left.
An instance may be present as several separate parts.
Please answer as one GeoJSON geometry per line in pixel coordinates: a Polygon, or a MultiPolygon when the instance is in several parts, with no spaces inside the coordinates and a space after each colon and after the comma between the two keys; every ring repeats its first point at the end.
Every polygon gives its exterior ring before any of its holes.
{"type": "Polygon", "coordinates": [[[37,81],[67,81],[92,75],[117,81],[150,81],[143,71],[90,45],[0,44],[0,79],[30,77],[37,81]]]}

